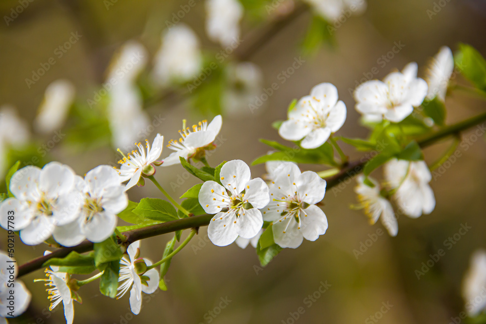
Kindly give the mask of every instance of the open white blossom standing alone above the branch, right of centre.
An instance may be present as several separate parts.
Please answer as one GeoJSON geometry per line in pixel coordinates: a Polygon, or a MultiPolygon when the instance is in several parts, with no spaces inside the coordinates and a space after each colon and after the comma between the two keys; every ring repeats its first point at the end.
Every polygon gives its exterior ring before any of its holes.
{"type": "Polygon", "coordinates": [[[346,105],[338,101],[337,89],[330,83],[321,83],[311,90],[289,111],[289,119],[278,129],[287,140],[300,140],[304,149],[315,149],[337,132],[346,120],[346,105]]]}

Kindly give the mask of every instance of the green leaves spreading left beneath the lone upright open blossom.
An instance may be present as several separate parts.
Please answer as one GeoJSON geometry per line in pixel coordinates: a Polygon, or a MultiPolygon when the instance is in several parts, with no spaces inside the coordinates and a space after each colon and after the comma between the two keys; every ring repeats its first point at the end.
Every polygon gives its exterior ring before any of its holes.
{"type": "Polygon", "coordinates": [[[325,164],[336,166],[334,161],[334,149],[330,143],[324,143],[322,146],[306,150],[299,146],[294,148],[279,144],[275,141],[269,141],[260,139],[260,141],[279,152],[263,155],[252,162],[252,165],[264,163],[267,161],[293,161],[296,163],[309,163],[309,164],[325,164]]]}

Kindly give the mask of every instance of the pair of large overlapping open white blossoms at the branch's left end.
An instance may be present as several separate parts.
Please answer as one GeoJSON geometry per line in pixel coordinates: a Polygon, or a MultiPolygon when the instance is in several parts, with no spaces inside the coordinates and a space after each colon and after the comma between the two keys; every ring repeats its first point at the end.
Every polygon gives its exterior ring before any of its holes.
{"type": "Polygon", "coordinates": [[[115,229],[116,214],[128,200],[118,172],[108,166],[89,171],[83,180],[68,166],[51,162],[18,170],[10,181],[15,198],[0,204],[0,225],[8,228],[14,211],[16,230],[25,244],[54,239],[73,246],[88,238],[101,242],[115,229]]]}

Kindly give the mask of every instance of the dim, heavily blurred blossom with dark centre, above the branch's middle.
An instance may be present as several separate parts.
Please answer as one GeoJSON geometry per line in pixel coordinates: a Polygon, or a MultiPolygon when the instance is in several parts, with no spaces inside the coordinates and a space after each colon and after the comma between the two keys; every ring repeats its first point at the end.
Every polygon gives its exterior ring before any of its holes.
{"type": "Polygon", "coordinates": [[[242,116],[256,113],[257,108],[251,103],[255,97],[260,97],[263,88],[263,73],[251,62],[228,65],[226,68],[226,85],[221,105],[230,115],[242,116]]]}

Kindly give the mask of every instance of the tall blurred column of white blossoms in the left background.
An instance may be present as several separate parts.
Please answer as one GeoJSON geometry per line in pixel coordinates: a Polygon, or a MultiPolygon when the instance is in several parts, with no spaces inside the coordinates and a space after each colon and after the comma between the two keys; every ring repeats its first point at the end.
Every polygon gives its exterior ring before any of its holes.
{"type": "Polygon", "coordinates": [[[135,81],[147,63],[147,51],[135,41],[125,43],[115,54],[106,77],[110,102],[107,113],[113,146],[129,147],[149,125],[142,95],[135,81]]]}

